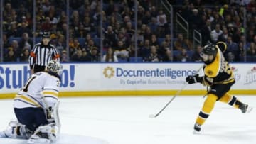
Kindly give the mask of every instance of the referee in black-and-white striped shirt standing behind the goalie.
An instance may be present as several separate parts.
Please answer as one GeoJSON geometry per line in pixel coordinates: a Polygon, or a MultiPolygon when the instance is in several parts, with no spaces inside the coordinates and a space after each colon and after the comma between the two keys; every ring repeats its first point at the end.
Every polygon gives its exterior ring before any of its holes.
{"type": "Polygon", "coordinates": [[[31,74],[44,71],[50,60],[60,62],[60,55],[57,49],[53,45],[50,45],[50,33],[43,32],[42,37],[41,43],[34,45],[28,59],[31,74]]]}

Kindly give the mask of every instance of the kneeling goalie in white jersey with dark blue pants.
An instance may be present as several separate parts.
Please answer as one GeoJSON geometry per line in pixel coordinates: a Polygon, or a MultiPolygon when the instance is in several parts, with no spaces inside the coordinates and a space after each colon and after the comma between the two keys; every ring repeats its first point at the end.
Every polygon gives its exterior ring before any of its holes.
{"type": "Polygon", "coordinates": [[[11,121],[0,137],[26,138],[28,143],[51,143],[58,137],[58,92],[62,66],[48,62],[47,70],[36,72],[16,94],[14,112],[18,121],[11,121]]]}

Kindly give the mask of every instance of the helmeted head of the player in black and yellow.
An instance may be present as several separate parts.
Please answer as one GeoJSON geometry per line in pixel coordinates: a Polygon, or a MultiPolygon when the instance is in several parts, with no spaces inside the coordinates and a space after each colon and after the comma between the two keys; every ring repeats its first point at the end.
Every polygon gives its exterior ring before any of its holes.
{"type": "Polygon", "coordinates": [[[200,53],[200,57],[206,64],[210,64],[215,59],[217,55],[216,45],[206,45],[200,53]]]}

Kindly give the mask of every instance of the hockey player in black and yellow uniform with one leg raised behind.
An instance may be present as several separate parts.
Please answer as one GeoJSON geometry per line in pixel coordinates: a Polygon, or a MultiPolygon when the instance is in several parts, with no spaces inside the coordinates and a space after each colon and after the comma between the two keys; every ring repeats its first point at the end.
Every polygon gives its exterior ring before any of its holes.
{"type": "Polygon", "coordinates": [[[201,58],[204,62],[204,75],[200,77],[196,74],[186,77],[188,84],[199,82],[210,87],[203,108],[196,118],[194,132],[201,130],[201,126],[210,116],[216,101],[221,101],[240,109],[242,113],[248,113],[252,110],[247,104],[238,100],[237,97],[228,94],[230,87],[235,84],[235,79],[230,65],[223,56],[226,48],[227,46],[223,42],[218,42],[216,45],[206,45],[201,52],[201,58]]]}

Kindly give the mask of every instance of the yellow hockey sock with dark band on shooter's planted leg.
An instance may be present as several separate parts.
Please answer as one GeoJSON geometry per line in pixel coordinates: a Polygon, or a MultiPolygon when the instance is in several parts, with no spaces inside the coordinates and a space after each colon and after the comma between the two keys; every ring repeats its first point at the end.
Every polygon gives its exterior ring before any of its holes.
{"type": "Polygon", "coordinates": [[[210,115],[210,112],[213,110],[217,99],[218,97],[215,96],[215,94],[208,94],[206,101],[203,104],[203,108],[201,109],[198,118],[196,118],[196,123],[198,123],[199,125],[203,125],[203,123],[210,115]]]}

